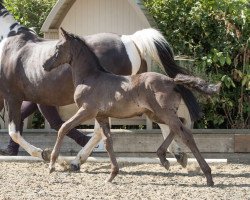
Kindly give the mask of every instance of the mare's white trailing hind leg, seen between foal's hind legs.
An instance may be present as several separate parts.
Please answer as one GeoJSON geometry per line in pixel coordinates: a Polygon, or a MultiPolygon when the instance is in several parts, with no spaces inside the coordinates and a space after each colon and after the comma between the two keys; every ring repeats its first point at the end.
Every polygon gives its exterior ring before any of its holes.
{"type": "MultiPolygon", "coordinates": [[[[167,136],[170,133],[170,129],[168,125],[165,124],[159,124],[159,127],[161,128],[161,132],[163,135],[163,138],[166,139],[167,136]]],[[[175,141],[175,139],[170,143],[168,149],[167,149],[174,157],[176,158],[177,162],[180,163],[182,167],[187,166],[187,154],[181,150],[181,147],[178,145],[178,143],[175,141]]],[[[166,151],[167,151],[166,150],[166,151]]],[[[166,153],[165,153],[166,154],[166,153]]]]}

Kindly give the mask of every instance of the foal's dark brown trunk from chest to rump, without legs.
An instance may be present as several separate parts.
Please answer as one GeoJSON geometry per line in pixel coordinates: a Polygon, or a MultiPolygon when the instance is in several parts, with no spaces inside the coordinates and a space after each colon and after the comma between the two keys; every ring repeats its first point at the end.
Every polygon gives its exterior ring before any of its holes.
{"type": "MultiPolygon", "coordinates": [[[[98,78],[84,82],[76,88],[76,102],[80,96],[81,102],[92,100],[91,104],[98,108],[99,116],[128,118],[142,115],[153,111],[154,107],[169,106],[167,99],[173,99],[177,94],[173,80],[155,72],[132,76],[102,72],[98,78]]],[[[177,97],[180,101],[179,95],[177,97]]]]}

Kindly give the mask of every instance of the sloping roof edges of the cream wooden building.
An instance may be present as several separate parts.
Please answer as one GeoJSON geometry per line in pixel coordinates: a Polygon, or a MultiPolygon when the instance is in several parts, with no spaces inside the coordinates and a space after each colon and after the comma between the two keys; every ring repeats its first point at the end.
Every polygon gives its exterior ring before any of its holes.
{"type": "MultiPolygon", "coordinates": [[[[41,31],[47,32],[49,30],[58,29],[75,1],[76,0],[58,0],[43,23],[41,31]]],[[[139,17],[146,20],[151,27],[156,27],[153,17],[148,13],[141,0],[127,1],[133,7],[135,12],[137,12],[139,17]]]]}

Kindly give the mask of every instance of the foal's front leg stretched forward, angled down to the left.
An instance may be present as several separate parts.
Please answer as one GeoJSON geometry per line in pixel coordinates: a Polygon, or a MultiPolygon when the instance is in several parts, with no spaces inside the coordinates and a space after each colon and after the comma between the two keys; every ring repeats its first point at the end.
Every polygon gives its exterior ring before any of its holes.
{"type": "Polygon", "coordinates": [[[60,148],[62,146],[64,136],[72,128],[75,128],[81,122],[84,122],[88,119],[94,118],[96,113],[97,112],[95,110],[91,111],[90,109],[87,110],[86,108],[81,107],[76,112],[75,115],[73,115],[69,120],[67,120],[66,122],[63,123],[63,125],[61,126],[61,128],[58,131],[57,140],[56,140],[55,146],[53,148],[53,151],[51,153],[50,164],[49,164],[50,173],[55,170],[55,162],[56,162],[56,159],[58,158],[59,151],[60,151],[60,148]]]}

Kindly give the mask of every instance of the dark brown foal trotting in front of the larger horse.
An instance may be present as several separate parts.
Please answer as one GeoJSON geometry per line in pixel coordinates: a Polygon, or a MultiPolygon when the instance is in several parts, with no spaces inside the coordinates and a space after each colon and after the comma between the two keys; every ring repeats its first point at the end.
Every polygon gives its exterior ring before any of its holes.
{"type": "MultiPolygon", "coordinates": [[[[55,161],[64,135],[81,122],[96,118],[102,129],[99,134],[102,134],[111,160],[111,174],[107,181],[112,181],[118,174],[119,168],[113,151],[108,117],[129,118],[145,113],[151,120],[169,125],[171,130],[157,150],[161,164],[166,168],[169,167],[165,152],[173,138],[179,137],[196,157],[206,176],[207,184],[209,186],[214,184],[211,169],[201,156],[192,133],[176,114],[181,96],[175,89],[177,84],[185,84],[200,92],[213,94],[218,92],[219,85],[208,85],[199,78],[186,75],[177,75],[174,79],[154,72],[132,76],[114,75],[102,68],[83,40],[63,29],[62,35],[63,38],[57,44],[54,55],[44,63],[43,67],[50,71],[63,63],[71,65],[75,86],[74,100],[79,110],[58,131],[49,165],[50,172],[55,170],[55,161]]],[[[78,157],[81,157],[81,151],[78,157]]],[[[79,169],[80,161],[72,165],[79,169]]]]}

